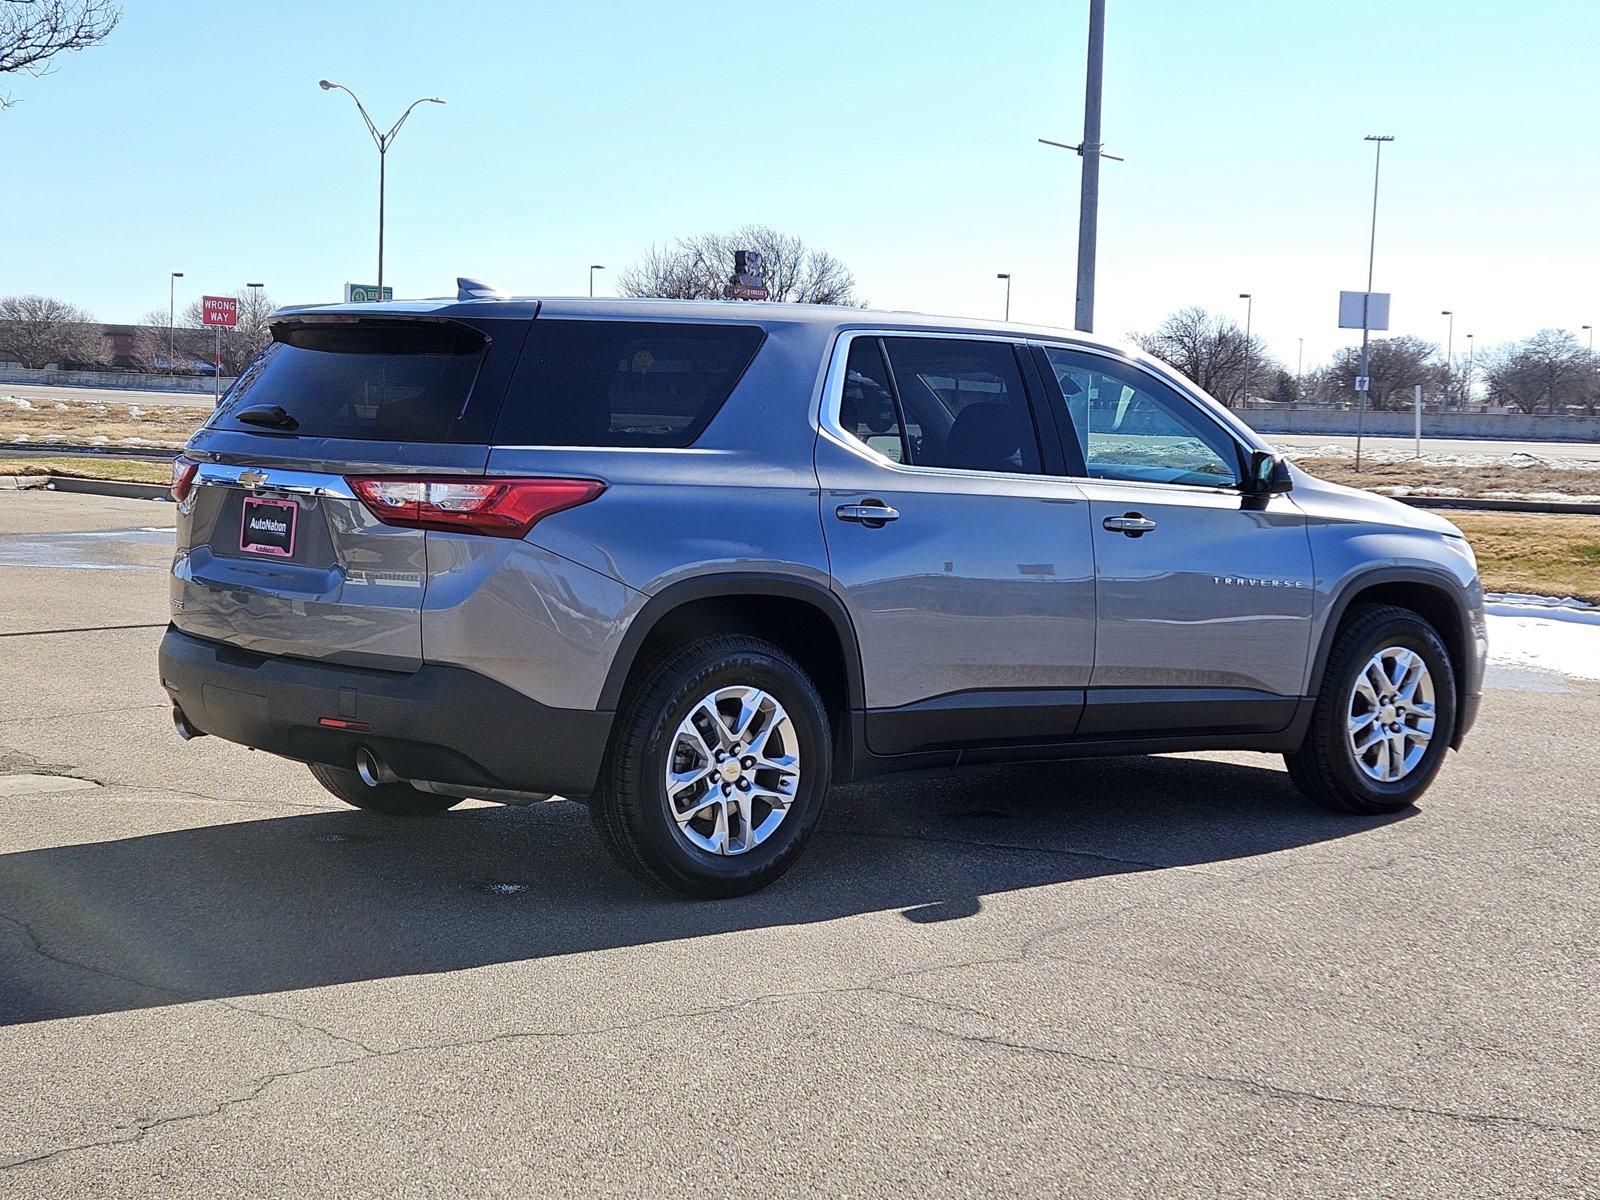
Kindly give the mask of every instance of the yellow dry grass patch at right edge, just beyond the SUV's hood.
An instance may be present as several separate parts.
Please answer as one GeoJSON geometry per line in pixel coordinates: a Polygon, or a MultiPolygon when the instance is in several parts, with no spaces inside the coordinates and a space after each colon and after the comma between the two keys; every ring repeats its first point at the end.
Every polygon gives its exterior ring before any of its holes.
{"type": "Polygon", "coordinates": [[[1491,592],[1571,595],[1600,603],[1600,517],[1446,512],[1478,555],[1491,592]]]}

